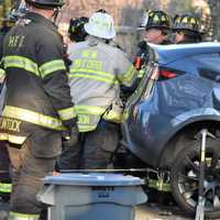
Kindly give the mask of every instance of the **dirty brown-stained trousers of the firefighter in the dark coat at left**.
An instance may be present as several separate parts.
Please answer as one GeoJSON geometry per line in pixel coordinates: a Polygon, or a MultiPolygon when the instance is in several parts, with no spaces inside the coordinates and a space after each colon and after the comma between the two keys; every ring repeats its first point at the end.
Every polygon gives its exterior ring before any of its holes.
{"type": "Polygon", "coordinates": [[[41,178],[54,170],[56,160],[35,157],[29,141],[21,148],[9,144],[8,151],[12,166],[11,211],[40,215],[43,205],[36,200],[36,194],[42,187],[41,178]]]}

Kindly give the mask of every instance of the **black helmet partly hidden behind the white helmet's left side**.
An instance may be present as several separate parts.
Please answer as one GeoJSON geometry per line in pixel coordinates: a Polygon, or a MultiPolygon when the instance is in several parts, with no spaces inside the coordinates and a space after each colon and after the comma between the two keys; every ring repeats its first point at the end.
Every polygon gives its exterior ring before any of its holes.
{"type": "Polygon", "coordinates": [[[70,19],[68,34],[72,41],[81,42],[85,41],[88,35],[84,29],[84,24],[88,23],[89,19],[86,16],[70,19]]]}

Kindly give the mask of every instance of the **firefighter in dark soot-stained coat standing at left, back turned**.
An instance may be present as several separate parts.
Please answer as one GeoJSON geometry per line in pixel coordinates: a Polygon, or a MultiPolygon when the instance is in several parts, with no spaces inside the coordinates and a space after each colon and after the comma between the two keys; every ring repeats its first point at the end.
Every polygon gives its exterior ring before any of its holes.
{"type": "Polygon", "coordinates": [[[9,220],[38,220],[42,178],[54,170],[62,135],[77,140],[76,113],[53,18],[61,0],[25,0],[29,12],[7,34],[3,67],[7,95],[0,140],[12,166],[9,220]]]}

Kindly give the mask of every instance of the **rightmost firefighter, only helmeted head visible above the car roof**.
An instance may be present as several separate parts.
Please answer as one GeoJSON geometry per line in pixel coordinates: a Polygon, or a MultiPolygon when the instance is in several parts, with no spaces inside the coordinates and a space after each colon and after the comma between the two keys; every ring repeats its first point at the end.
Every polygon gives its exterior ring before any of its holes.
{"type": "Polygon", "coordinates": [[[176,44],[199,43],[202,41],[200,21],[193,15],[176,15],[173,31],[176,44]]]}

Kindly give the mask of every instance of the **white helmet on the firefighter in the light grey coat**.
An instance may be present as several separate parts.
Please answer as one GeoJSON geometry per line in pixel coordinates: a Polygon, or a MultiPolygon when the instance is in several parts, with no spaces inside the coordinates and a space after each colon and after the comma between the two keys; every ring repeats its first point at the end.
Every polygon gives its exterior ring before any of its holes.
{"type": "Polygon", "coordinates": [[[92,36],[101,38],[113,38],[116,30],[113,19],[108,13],[96,12],[89,18],[89,22],[84,25],[86,32],[92,36]]]}

